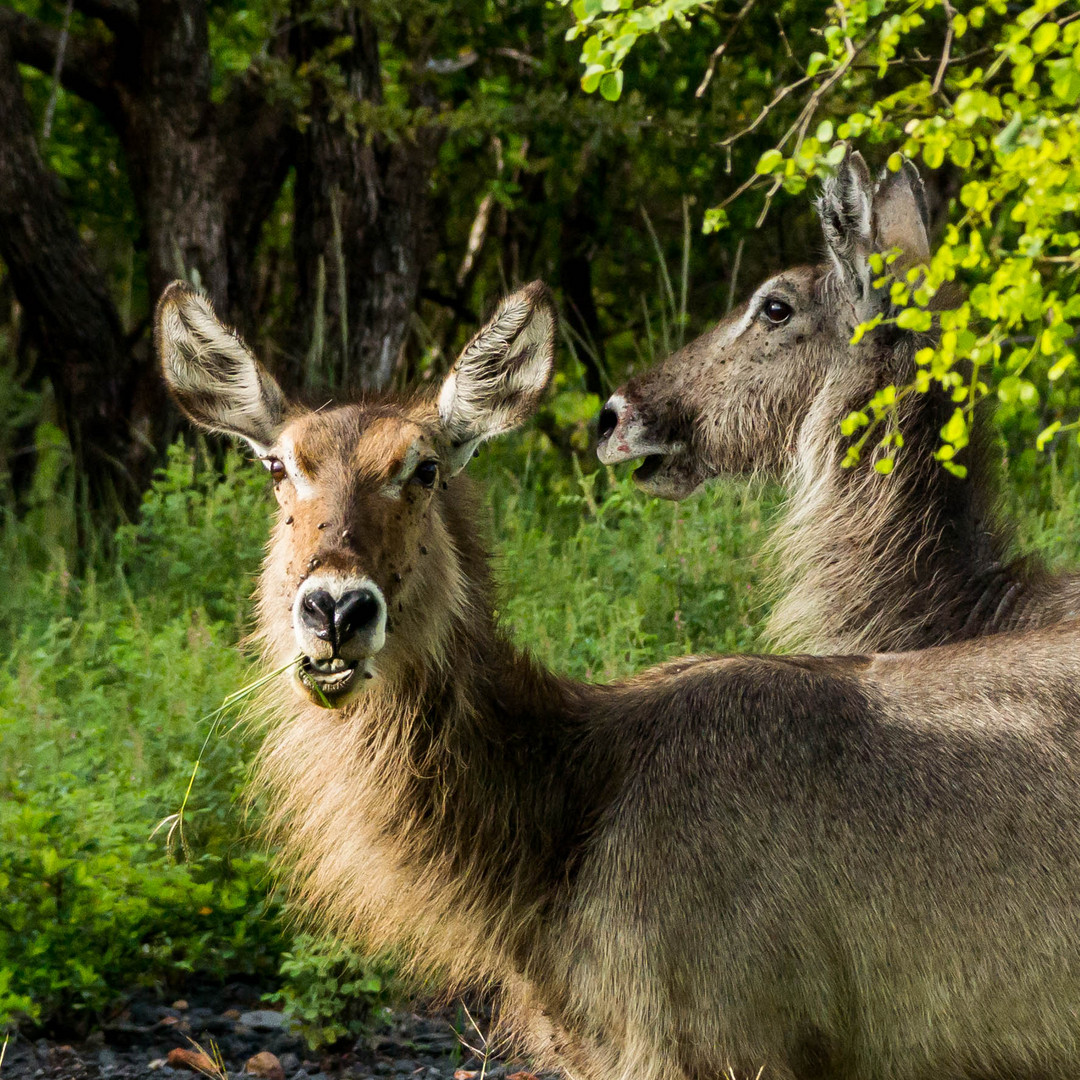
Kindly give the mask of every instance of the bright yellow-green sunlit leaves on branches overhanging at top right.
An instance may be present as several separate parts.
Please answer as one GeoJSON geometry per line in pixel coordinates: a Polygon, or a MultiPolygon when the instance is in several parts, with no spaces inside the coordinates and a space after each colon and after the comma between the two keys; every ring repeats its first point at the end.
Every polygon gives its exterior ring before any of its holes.
{"type": "MultiPolygon", "coordinates": [[[[573,32],[591,33],[583,87],[604,80],[611,87],[638,37],[673,17],[689,25],[704,6],[579,0],[573,32]]],[[[801,193],[836,165],[842,140],[880,146],[893,171],[902,156],[946,171],[949,220],[929,267],[899,281],[888,259],[876,267],[879,287],[891,291],[892,320],[910,330],[936,321],[941,334],[919,352],[914,384],[878,395],[848,428],[876,430],[905,393],[940,384],[956,411],[939,458],[961,475],[956,459],[988,393],[1001,421],[1038,433],[1040,449],[1080,429],[1080,15],[1058,0],[963,10],[948,0],[838,0],[820,33],[799,77],[744,129],[782,117],[783,134],[706,225],[723,228],[743,190],[764,188],[765,210],[778,192],[801,193]],[[954,283],[963,286],[959,301],[954,283]]],[[[887,454],[880,463],[890,462],[887,454]]]]}

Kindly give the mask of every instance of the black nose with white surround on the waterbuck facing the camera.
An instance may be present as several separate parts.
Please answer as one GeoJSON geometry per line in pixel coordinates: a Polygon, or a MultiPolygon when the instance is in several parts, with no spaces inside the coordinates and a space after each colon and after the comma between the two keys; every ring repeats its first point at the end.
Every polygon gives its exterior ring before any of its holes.
{"type": "Polygon", "coordinates": [[[372,656],[386,621],[382,592],[370,581],[309,580],[296,598],[294,625],[308,656],[372,656]]]}

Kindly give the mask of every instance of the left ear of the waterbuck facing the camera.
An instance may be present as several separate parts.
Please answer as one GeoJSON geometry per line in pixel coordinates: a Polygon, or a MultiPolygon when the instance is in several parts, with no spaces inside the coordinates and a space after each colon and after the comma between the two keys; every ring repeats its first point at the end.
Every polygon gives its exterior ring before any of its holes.
{"type": "Polygon", "coordinates": [[[285,395],[210,300],[174,281],[153,328],[165,382],[184,414],[210,431],[240,435],[265,455],[285,414],[285,395]]]}

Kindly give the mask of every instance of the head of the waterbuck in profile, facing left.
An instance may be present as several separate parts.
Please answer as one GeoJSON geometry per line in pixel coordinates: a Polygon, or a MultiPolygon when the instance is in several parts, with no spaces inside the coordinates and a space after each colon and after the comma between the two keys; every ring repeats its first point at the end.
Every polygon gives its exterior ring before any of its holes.
{"type": "Polygon", "coordinates": [[[904,162],[875,185],[849,152],[818,212],[826,260],[769,279],[715,329],[621,387],[600,413],[602,461],[645,458],[635,481],[670,499],[723,473],[779,473],[827,382],[855,408],[877,384],[904,378],[914,350],[897,350],[893,327],[851,338],[889,306],[869,256],[899,249],[893,272],[929,257],[918,172],[904,162]]]}

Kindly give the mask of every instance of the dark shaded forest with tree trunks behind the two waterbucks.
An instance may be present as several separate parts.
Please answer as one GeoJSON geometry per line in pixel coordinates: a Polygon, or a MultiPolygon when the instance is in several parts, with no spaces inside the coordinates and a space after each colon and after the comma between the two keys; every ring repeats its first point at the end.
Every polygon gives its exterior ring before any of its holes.
{"type": "Polygon", "coordinates": [[[814,245],[805,198],[701,235],[825,6],[739,10],[640,44],[612,103],[545,0],[4,0],[0,484],[25,511],[59,454],[95,517],[133,513],[177,430],[149,319],[178,276],[315,395],[445,367],[542,278],[566,381],[604,394],[814,245]]]}

